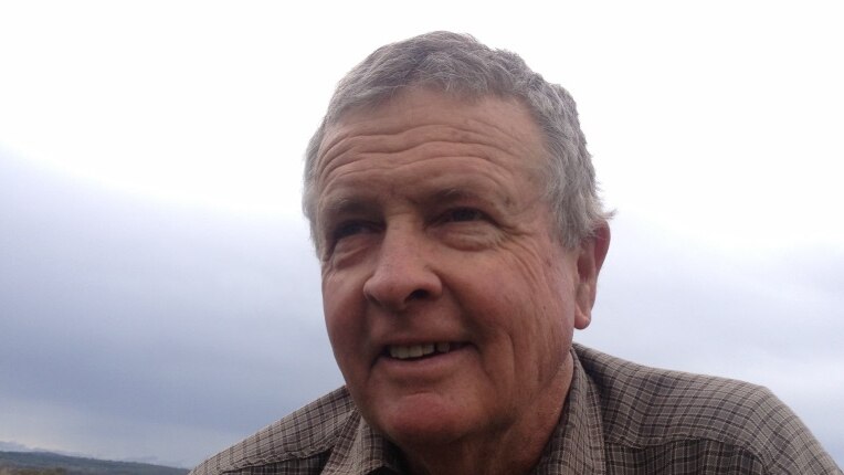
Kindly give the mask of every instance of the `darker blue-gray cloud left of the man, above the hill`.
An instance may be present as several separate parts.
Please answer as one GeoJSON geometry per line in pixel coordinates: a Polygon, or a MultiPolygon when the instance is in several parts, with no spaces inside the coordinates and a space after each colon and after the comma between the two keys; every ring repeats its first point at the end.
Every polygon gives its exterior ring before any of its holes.
{"type": "Polygon", "coordinates": [[[302,222],[163,209],[8,157],[0,189],[0,437],[193,464],[340,384],[302,222]],[[19,439],[43,414],[77,436],[19,439]],[[156,433],[191,436],[133,452],[156,433]]]}

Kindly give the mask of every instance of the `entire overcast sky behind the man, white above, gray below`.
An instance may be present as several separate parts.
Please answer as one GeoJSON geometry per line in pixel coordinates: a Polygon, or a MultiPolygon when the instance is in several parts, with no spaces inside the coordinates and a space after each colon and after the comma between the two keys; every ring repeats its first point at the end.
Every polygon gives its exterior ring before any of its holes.
{"type": "Polygon", "coordinates": [[[0,1],[0,448],[191,466],[341,384],[303,151],[445,29],[578,101],[618,217],[576,339],[764,384],[844,464],[840,2],[549,3],[0,1]]]}

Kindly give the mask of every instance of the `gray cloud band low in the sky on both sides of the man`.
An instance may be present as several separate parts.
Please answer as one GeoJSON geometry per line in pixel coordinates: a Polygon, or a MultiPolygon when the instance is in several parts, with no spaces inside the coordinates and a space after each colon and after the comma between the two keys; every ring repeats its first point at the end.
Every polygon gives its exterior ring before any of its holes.
{"type": "MultiPolygon", "coordinates": [[[[302,221],[0,156],[0,440],[192,465],[341,383],[302,221]]],[[[623,211],[623,210],[622,210],[623,211]]],[[[841,249],[742,256],[622,212],[581,342],[766,384],[844,460],[841,249]]]]}

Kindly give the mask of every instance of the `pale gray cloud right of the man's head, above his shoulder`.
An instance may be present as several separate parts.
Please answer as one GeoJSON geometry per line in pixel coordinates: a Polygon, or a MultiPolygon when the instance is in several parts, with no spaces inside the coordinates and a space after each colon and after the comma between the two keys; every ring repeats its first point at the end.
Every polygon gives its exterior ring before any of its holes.
{"type": "Polygon", "coordinates": [[[620,213],[590,328],[613,355],[766,386],[844,458],[844,261],[834,246],[747,255],[620,213]]]}

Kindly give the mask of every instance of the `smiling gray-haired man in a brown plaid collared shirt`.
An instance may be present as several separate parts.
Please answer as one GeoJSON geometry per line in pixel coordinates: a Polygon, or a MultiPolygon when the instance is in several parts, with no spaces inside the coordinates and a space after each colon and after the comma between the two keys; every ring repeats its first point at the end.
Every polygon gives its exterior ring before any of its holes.
{"type": "Polygon", "coordinates": [[[193,472],[840,473],[767,390],[572,344],[609,214],[574,103],[437,32],[338,85],[305,213],[339,389],[193,472]]]}

